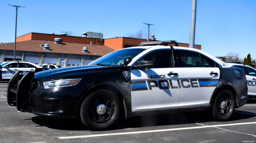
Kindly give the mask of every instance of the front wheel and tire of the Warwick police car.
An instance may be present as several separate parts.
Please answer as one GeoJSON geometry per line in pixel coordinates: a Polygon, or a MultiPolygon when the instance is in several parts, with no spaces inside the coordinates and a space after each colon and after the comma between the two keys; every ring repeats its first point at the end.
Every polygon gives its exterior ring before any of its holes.
{"type": "Polygon", "coordinates": [[[80,109],[83,125],[92,130],[112,127],[117,123],[119,115],[119,98],[114,92],[108,90],[99,90],[90,94],[84,99],[80,109]]]}

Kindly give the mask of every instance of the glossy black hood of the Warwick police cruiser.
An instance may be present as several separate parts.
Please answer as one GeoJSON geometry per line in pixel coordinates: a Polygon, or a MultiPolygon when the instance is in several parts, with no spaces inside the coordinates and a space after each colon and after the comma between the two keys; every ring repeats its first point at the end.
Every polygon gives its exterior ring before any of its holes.
{"type": "Polygon", "coordinates": [[[80,78],[82,74],[85,74],[89,71],[103,70],[104,66],[98,65],[87,65],[87,66],[75,66],[75,67],[65,67],[65,68],[56,68],[46,71],[41,71],[35,73],[34,79],[38,81],[49,81],[49,80],[58,80],[58,79],[68,79],[68,78],[80,78]]]}

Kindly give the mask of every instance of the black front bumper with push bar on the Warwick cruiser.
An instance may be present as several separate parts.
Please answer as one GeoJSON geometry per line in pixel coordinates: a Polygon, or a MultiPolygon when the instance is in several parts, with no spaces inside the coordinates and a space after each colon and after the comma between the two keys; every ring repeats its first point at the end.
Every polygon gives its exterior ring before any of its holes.
{"type": "Polygon", "coordinates": [[[8,104],[19,111],[38,116],[75,118],[82,97],[81,85],[45,89],[42,82],[33,79],[34,73],[16,73],[8,85],[8,104]]]}

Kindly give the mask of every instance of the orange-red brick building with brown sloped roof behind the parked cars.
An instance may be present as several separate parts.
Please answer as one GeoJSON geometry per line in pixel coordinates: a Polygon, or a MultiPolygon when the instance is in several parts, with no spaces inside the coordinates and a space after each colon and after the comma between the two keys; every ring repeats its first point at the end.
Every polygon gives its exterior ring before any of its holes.
{"type": "MultiPolygon", "coordinates": [[[[146,39],[96,39],[53,34],[29,33],[16,38],[16,60],[37,65],[50,63],[62,67],[88,65],[101,56],[118,49],[138,46],[146,39]],[[84,48],[87,47],[87,48],[84,48]]],[[[173,45],[174,46],[174,45],[173,45]]],[[[188,47],[188,44],[179,43],[188,47]]],[[[195,45],[201,50],[201,45],[195,45]]],[[[13,60],[14,43],[0,44],[1,62],[13,60]]]]}

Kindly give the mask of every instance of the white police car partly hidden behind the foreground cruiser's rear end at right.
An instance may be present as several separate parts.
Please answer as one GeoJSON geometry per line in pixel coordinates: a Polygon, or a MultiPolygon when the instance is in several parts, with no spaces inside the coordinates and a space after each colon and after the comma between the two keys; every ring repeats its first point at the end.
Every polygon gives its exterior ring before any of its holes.
{"type": "Polygon", "coordinates": [[[225,62],[234,68],[240,68],[244,71],[248,86],[248,98],[256,98],[256,70],[250,66],[242,65],[240,61],[225,62]]]}

